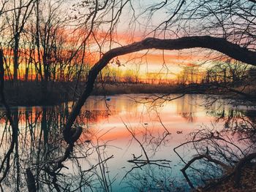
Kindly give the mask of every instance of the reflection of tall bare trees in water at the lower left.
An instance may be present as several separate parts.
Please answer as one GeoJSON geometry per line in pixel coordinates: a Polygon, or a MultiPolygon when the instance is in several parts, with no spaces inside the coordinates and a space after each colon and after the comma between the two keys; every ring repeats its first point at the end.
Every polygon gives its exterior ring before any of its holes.
{"type": "Polygon", "coordinates": [[[107,161],[113,156],[105,154],[108,145],[94,137],[96,144],[90,138],[86,142],[78,141],[73,147],[66,146],[61,131],[67,120],[64,106],[39,111],[16,108],[11,116],[18,134],[7,167],[4,159],[8,158],[7,147],[12,145],[12,131],[6,113],[1,112],[1,163],[7,170],[6,174],[1,172],[1,191],[27,191],[26,186],[29,191],[110,190],[110,179],[105,170],[107,161]],[[96,155],[97,163],[85,169],[83,163],[92,155],[96,155]]]}

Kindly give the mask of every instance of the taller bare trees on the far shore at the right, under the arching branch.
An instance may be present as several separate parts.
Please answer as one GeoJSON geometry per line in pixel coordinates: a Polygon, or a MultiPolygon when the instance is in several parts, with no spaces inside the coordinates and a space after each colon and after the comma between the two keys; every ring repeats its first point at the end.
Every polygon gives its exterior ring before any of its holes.
{"type": "Polygon", "coordinates": [[[208,68],[186,66],[177,75],[176,83],[189,84],[222,84],[222,85],[253,85],[256,82],[256,68],[241,62],[214,62],[208,68]]]}

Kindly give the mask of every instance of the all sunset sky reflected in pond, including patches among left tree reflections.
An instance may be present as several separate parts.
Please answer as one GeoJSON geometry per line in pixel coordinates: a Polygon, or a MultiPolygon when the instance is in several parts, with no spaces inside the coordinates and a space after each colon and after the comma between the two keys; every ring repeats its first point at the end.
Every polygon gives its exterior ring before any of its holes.
{"type": "MultiPolygon", "coordinates": [[[[215,122],[215,113],[208,113],[208,110],[200,105],[203,104],[203,98],[199,95],[186,95],[180,99],[164,103],[157,101],[154,103],[155,105],[143,103],[150,101],[150,99],[142,100],[142,97],[148,97],[148,95],[109,96],[107,97],[109,101],[105,101],[102,96],[91,96],[83,107],[80,117],[78,117],[78,123],[84,127],[84,132],[80,137],[80,145],[76,147],[76,154],[79,156],[79,151],[86,151],[88,146],[95,146],[97,142],[99,142],[99,145],[107,145],[102,158],[113,155],[113,158],[108,160],[108,169],[105,170],[105,173],[109,174],[110,180],[114,180],[113,191],[132,191],[131,188],[127,188],[130,185],[133,187],[135,185],[145,185],[144,188],[148,185],[155,185],[157,188],[163,185],[173,187],[173,180],[176,180],[184,188],[187,183],[184,182],[184,177],[179,171],[183,164],[181,164],[176,153],[173,152],[173,147],[185,142],[187,135],[196,129],[205,126],[209,128],[214,126],[219,129],[223,127],[224,123],[223,121],[215,122]],[[140,102],[135,102],[134,99],[140,102]],[[127,162],[128,160],[140,155],[143,155],[141,159],[146,159],[139,143],[132,139],[132,135],[125,125],[143,144],[148,158],[171,161],[170,169],[159,169],[158,166],[147,165],[143,166],[143,169],[133,170],[122,180],[127,171],[134,166],[134,164],[127,162]],[[170,134],[159,145],[167,131],[170,134]],[[86,140],[90,139],[91,143],[85,143],[86,140]],[[141,180],[138,177],[141,177],[141,180]],[[158,181],[153,180],[158,177],[158,181]]],[[[69,107],[71,105],[69,104],[69,107]]],[[[221,113],[224,110],[225,114],[229,109],[230,106],[218,103],[211,107],[212,111],[221,113]]],[[[29,122],[33,123],[37,120],[34,128],[39,129],[35,129],[34,135],[38,137],[39,130],[43,125],[42,108],[19,107],[16,110],[20,112],[20,133],[26,130],[29,122]]],[[[65,122],[56,112],[58,107],[47,107],[45,110],[48,111],[47,121],[55,120],[57,126],[61,126],[61,123],[65,122]]],[[[3,118],[1,118],[1,124],[4,125],[3,118]]],[[[57,130],[56,133],[59,133],[58,137],[61,138],[61,131],[57,130]]],[[[48,136],[52,140],[56,139],[55,137],[54,134],[48,136]]],[[[22,141],[22,139],[24,138],[21,137],[20,140],[22,141]]],[[[187,151],[183,148],[179,149],[178,152],[185,159],[191,158],[193,153],[193,151],[187,151]]],[[[90,169],[92,165],[98,162],[97,153],[94,152],[93,155],[80,161],[82,162],[82,169],[90,169]]],[[[67,161],[65,164],[71,165],[72,162],[67,161]]],[[[75,172],[75,168],[64,170],[64,172],[75,172]]],[[[139,189],[137,188],[137,190],[139,189]]]]}

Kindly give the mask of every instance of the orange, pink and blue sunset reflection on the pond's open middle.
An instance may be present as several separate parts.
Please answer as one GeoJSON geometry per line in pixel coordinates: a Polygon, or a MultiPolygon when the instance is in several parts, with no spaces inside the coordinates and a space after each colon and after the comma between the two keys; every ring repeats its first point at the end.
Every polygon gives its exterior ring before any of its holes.
{"type": "MultiPolygon", "coordinates": [[[[181,169],[181,163],[178,156],[173,152],[173,147],[184,142],[186,135],[191,131],[203,125],[211,126],[215,118],[208,116],[203,106],[197,105],[203,102],[200,96],[184,96],[181,99],[165,102],[163,104],[157,103],[156,107],[151,104],[136,103],[131,99],[132,97],[135,97],[136,101],[140,101],[138,96],[132,95],[129,95],[129,97],[110,96],[110,101],[106,101],[106,103],[108,104],[110,114],[113,113],[113,115],[109,115],[108,118],[99,118],[97,123],[89,125],[89,128],[93,128],[94,131],[99,132],[97,136],[110,130],[101,137],[100,140],[102,140],[102,142],[109,140],[108,145],[116,146],[108,147],[106,150],[108,156],[114,155],[114,158],[108,161],[110,177],[116,179],[115,183],[113,183],[114,191],[118,191],[118,188],[123,188],[122,191],[129,191],[128,188],[124,188],[124,186],[136,183],[136,180],[132,181],[132,179],[136,177],[129,175],[127,179],[122,180],[122,183],[120,182],[126,172],[134,166],[127,161],[133,159],[133,155],[135,155],[135,157],[143,155],[139,143],[136,142],[135,139],[132,139],[124,123],[128,128],[135,131],[136,138],[143,143],[148,157],[151,160],[165,159],[172,161],[170,164],[171,168],[167,169],[169,174],[171,173],[169,175],[169,181],[174,179],[184,181],[179,171],[181,169]],[[165,142],[162,142],[161,146],[157,147],[165,131],[165,128],[163,128],[159,120],[162,121],[162,124],[170,132],[170,135],[165,138],[165,142]],[[182,134],[180,134],[181,132],[182,134]],[[157,150],[154,150],[156,147],[157,150]]],[[[107,109],[105,101],[99,100],[99,97],[96,97],[97,99],[94,98],[95,97],[91,97],[89,99],[84,110],[107,109]]],[[[222,123],[215,125],[215,127],[222,127],[222,123]]],[[[181,152],[181,154],[184,153],[183,151],[179,152],[181,152]]],[[[184,153],[184,155],[187,155],[188,158],[191,157],[189,152],[184,153]]],[[[145,160],[145,155],[143,155],[142,159],[145,160]]],[[[145,166],[143,170],[135,169],[130,175],[144,175],[146,172],[150,172],[150,169],[154,169],[154,173],[156,174],[156,169],[159,170],[159,167],[145,166]]],[[[155,175],[155,177],[157,176],[155,175]]],[[[144,180],[147,181],[150,180],[150,178],[144,178],[144,180]]],[[[160,184],[161,183],[154,183],[154,185],[160,184]]],[[[140,183],[140,185],[142,184],[140,183]]],[[[171,185],[171,183],[169,182],[167,185],[171,185]]]]}

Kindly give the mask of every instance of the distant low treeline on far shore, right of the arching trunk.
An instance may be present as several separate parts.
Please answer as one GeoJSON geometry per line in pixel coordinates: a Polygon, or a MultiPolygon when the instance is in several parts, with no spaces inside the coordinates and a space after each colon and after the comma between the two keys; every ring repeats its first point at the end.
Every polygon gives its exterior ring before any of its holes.
{"type": "Polygon", "coordinates": [[[116,83],[147,83],[147,84],[222,84],[222,85],[245,85],[256,81],[256,68],[241,62],[214,61],[208,67],[200,65],[184,66],[173,78],[168,73],[146,73],[145,77],[140,70],[127,69],[121,71],[118,68],[108,67],[102,70],[102,82],[116,83]]]}

